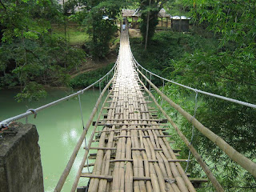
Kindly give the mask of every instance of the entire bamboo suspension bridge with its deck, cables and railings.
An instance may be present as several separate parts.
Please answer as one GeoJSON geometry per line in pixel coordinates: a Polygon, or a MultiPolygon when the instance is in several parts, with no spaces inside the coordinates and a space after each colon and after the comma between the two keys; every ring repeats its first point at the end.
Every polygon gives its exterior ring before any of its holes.
{"type": "MultiPolygon", "coordinates": [[[[192,143],[182,134],[174,121],[166,114],[158,104],[150,90],[154,89],[170,106],[178,110],[195,128],[204,136],[209,138],[213,144],[222,149],[234,162],[250,172],[252,177],[256,177],[256,164],[232,146],[226,143],[218,135],[207,129],[202,123],[188,114],[181,106],[174,103],[166,97],[158,87],[147,78],[147,74],[162,78],[150,71],[144,69],[138,64],[130,50],[128,30],[122,30],[120,38],[120,49],[117,62],[114,67],[101,79],[94,84],[79,90],[65,98],[51,102],[46,106],[30,109],[24,114],[13,118],[8,118],[1,122],[2,126],[8,126],[20,118],[26,118],[29,115],[36,115],[38,111],[44,110],[49,106],[58,105],[59,102],[66,101],[70,98],[77,97],[80,102],[80,94],[90,89],[96,83],[102,82],[107,78],[105,88],[94,106],[90,119],[83,124],[83,132],[71,154],[70,160],[58,181],[54,191],[61,191],[70,169],[74,164],[74,159],[78,150],[84,148],[85,154],[79,166],[78,173],[74,178],[71,191],[174,191],[174,192],[192,192],[201,182],[212,182],[216,191],[224,191],[218,180],[211,173],[206,163],[194,149],[192,143]],[[145,73],[142,73],[144,70],[145,73]],[[144,82],[150,85],[148,89],[144,82]],[[103,95],[107,94],[105,101],[102,101],[103,95]],[[158,118],[150,102],[165,116],[165,119],[158,118]],[[102,104],[102,105],[101,105],[102,104]],[[98,113],[98,107],[102,106],[97,120],[94,122],[95,114],[98,113]],[[107,114],[102,114],[107,110],[107,114]],[[181,162],[189,162],[188,159],[179,159],[179,150],[170,146],[170,135],[166,130],[170,129],[166,123],[170,122],[173,129],[177,131],[180,138],[189,148],[190,153],[194,155],[198,164],[205,171],[207,178],[190,178],[181,166],[181,162]],[[87,130],[93,125],[92,134],[89,141],[85,141],[87,130]],[[98,128],[101,127],[101,130],[98,128]],[[85,142],[85,147],[82,143],[85,142]],[[97,142],[98,146],[91,146],[97,142]],[[90,150],[97,150],[96,154],[90,153],[90,150]],[[94,163],[89,163],[88,158],[95,159],[94,163]],[[88,168],[92,166],[93,170],[88,168]],[[78,187],[80,178],[90,178],[88,183],[83,187],[78,187]]],[[[186,89],[194,90],[197,94],[207,94],[211,97],[225,99],[229,102],[256,108],[254,104],[241,102],[232,98],[225,98],[220,95],[207,93],[202,90],[184,86],[177,82],[172,82],[162,78],[163,81],[183,86],[186,89]]],[[[80,102],[81,106],[81,102],[80,102]]],[[[82,107],[82,106],[81,106],[82,107]]],[[[82,108],[81,108],[82,109],[82,108]]],[[[81,110],[82,115],[82,110],[81,110]]]]}

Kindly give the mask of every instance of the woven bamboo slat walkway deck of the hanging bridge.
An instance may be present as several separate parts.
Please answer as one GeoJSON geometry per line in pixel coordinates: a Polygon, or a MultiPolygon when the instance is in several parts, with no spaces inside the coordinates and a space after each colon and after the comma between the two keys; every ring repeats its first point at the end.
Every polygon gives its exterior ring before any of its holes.
{"type": "MultiPolygon", "coordinates": [[[[164,133],[161,119],[151,114],[134,69],[127,33],[121,35],[116,75],[108,113],[98,126],[98,150],[88,191],[195,191],[164,133]]],[[[86,170],[86,169],[85,169],[86,170]]],[[[194,180],[194,182],[197,182],[194,180]]]]}

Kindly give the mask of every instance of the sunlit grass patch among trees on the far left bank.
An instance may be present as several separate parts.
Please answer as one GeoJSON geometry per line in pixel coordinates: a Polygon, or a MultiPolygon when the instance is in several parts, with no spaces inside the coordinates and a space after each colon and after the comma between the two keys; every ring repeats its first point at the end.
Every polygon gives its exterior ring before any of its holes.
{"type": "MultiPolygon", "coordinates": [[[[64,26],[52,26],[52,33],[60,38],[65,38],[64,26]]],[[[89,35],[78,25],[66,26],[66,39],[72,46],[82,46],[89,39],[89,35]]]]}

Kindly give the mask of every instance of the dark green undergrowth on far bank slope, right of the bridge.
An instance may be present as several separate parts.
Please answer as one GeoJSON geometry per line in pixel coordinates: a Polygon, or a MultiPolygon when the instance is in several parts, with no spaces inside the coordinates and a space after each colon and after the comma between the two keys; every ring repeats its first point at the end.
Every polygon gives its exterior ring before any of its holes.
{"type": "MultiPolygon", "coordinates": [[[[172,31],[162,31],[154,34],[151,45],[144,51],[142,38],[131,38],[131,50],[134,58],[147,70],[163,77],[168,77],[174,70],[170,61],[177,61],[187,53],[193,53],[195,49],[212,50],[218,46],[213,38],[202,38],[197,34],[182,34],[172,31]]],[[[152,76],[154,83],[162,86],[162,81],[152,76]]]]}

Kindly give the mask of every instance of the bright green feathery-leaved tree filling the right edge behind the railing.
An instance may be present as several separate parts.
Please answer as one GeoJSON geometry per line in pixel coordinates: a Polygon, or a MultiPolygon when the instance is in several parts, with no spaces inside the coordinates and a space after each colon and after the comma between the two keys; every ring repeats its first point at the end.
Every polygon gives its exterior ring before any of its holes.
{"type": "MultiPolygon", "coordinates": [[[[179,61],[171,62],[170,65],[175,69],[171,78],[199,90],[256,103],[255,2],[184,2],[186,6],[190,5],[195,23],[204,24],[207,30],[214,31],[219,45],[213,50],[194,50],[193,54],[186,54],[179,61]]],[[[178,89],[176,94],[181,98],[190,97],[190,92],[171,87],[172,90],[178,89]]],[[[224,138],[234,149],[254,159],[256,150],[252,146],[256,144],[256,111],[203,94],[199,94],[199,99],[198,120],[224,138]]],[[[194,110],[190,102],[184,107],[191,112],[194,110]]],[[[190,135],[190,126],[186,122],[182,125],[185,126],[183,131],[190,135]]],[[[193,143],[207,162],[216,165],[213,170],[224,186],[255,186],[255,180],[250,174],[231,162],[202,134],[197,133],[193,143]]]]}

